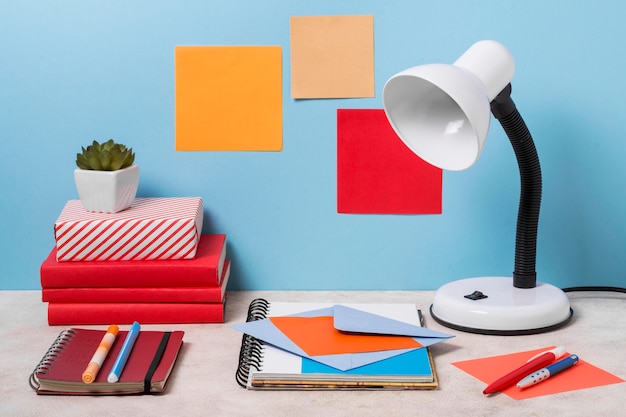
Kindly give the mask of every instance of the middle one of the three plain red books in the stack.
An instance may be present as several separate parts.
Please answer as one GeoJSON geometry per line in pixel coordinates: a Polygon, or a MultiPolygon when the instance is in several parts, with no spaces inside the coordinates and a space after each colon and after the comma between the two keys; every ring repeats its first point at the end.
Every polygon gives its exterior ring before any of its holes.
{"type": "Polygon", "coordinates": [[[230,276],[230,260],[224,263],[218,287],[43,288],[46,303],[223,303],[230,276]]]}

